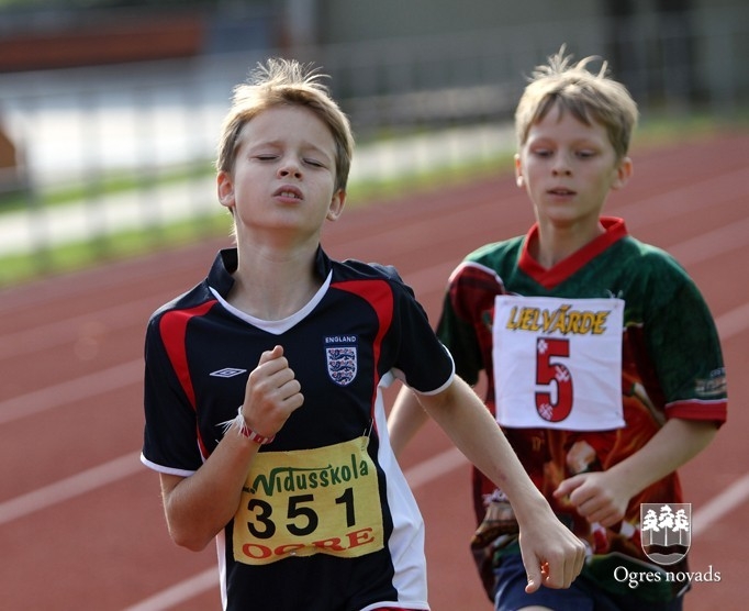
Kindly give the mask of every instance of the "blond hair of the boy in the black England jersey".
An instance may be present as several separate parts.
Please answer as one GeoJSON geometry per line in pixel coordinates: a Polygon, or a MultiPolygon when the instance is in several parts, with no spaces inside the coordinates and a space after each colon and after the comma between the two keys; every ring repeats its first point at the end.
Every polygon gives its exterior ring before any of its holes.
{"type": "Polygon", "coordinates": [[[239,134],[248,121],[275,107],[300,105],[314,112],[331,130],[336,147],[336,190],[346,190],[354,136],[348,118],[321,82],[325,77],[318,69],[294,59],[271,58],[265,65],[258,64],[247,82],[234,88],[232,108],[221,130],[216,168],[232,171],[239,134]]]}

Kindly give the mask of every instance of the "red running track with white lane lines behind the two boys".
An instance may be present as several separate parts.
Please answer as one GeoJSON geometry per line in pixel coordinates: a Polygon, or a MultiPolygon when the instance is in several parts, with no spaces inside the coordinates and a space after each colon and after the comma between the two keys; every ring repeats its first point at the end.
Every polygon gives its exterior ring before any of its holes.
{"type": "MultiPolygon", "coordinates": [[[[635,176],[607,212],[673,253],[723,336],[729,420],[682,469],[692,503],[686,609],[749,600],[749,135],[635,152],[635,176]]],[[[451,268],[473,247],[524,233],[530,207],[504,175],[349,210],[326,229],[334,257],[398,266],[433,320],[451,268]]],[[[102,266],[0,292],[0,592],[3,609],[219,609],[213,548],[168,538],[158,478],[138,463],[145,322],[202,279],[222,242],[102,266]]],[[[392,397],[392,393],[389,393],[392,397]]],[[[403,457],[427,525],[435,611],[489,611],[468,552],[469,469],[429,424],[403,457]]]]}

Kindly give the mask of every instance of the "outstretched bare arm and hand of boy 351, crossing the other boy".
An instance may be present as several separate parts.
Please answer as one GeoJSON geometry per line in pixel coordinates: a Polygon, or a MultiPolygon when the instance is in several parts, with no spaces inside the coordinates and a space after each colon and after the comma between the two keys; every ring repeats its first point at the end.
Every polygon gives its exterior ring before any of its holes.
{"type": "Polygon", "coordinates": [[[541,585],[568,588],[582,569],[583,544],[554,514],[481,399],[458,376],[446,390],[417,397],[466,457],[507,495],[521,527],[526,591],[541,585]]]}

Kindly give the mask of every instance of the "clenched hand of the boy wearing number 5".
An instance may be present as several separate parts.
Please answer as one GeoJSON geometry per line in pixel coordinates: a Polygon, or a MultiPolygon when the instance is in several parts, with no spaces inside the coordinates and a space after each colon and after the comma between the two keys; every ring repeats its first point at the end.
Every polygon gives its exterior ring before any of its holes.
{"type": "Polygon", "coordinates": [[[568,497],[578,513],[590,523],[611,527],[622,521],[629,504],[629,493],[616,484],[606,471],[578,474],[562,481],[554,496],[557,499],[568,497]]]}

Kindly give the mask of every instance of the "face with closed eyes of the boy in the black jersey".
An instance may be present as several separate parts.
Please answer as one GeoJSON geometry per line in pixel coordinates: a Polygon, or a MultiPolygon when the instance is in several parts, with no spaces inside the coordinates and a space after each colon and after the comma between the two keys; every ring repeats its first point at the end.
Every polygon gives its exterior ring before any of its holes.
{"type": "Polygon", "coordinates": [[[275,107],[247,122],[233,170],[217,177],[237,240],[256,232],[316,240],[325,219],[336,220],[344,207],[335,151],[327,125],[303,107],[275,107]]]}

